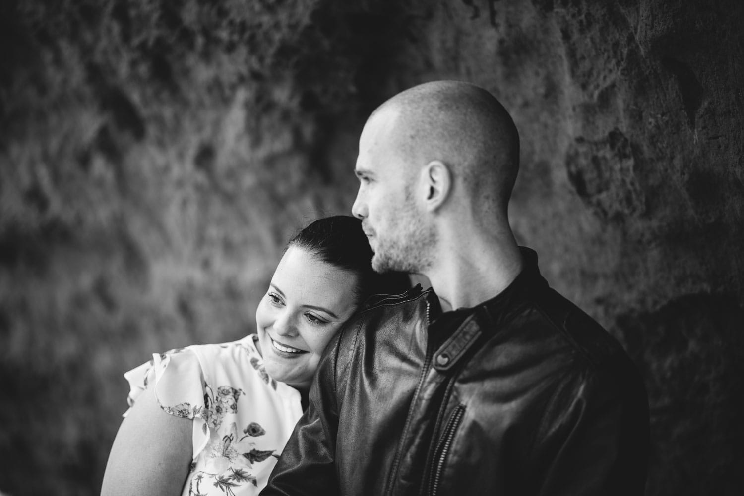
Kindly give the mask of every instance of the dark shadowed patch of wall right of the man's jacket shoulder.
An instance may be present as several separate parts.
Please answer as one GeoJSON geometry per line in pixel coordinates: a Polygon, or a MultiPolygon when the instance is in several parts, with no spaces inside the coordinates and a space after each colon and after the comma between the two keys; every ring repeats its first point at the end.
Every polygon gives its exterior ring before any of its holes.
{"type": "Polygon", "coordinates": [[[648,494],[734,494],[744,474],[744,309],[730,297],[687,295],[656,312],[622,315],[627,347],[647,378],[652,454],[648,494]]]}

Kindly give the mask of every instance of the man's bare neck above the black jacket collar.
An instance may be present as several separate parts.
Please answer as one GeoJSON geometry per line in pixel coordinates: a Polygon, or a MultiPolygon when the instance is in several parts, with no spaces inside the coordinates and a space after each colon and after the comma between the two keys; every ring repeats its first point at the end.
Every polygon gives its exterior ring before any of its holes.
{"type": "Polygon", "coordinates": [[[427,271],[442,309],[468,308],[507,289],[522,271],[522,254],[513,238],[469,239],[444,249],[427,271]]]}

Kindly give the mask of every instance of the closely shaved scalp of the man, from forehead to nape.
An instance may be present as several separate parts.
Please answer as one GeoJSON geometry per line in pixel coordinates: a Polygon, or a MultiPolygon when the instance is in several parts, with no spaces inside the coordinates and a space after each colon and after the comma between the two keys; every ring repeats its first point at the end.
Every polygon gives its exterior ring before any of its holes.
{"type": "Polygon", "coordinates": [[[506,213],[519,170],[519,134],[488,91],[460,81],[424,83],[379,106],[368,126],[375,121],[384,122],[391,146],[408,164],[442,161],[464,199],[506,213]]]}

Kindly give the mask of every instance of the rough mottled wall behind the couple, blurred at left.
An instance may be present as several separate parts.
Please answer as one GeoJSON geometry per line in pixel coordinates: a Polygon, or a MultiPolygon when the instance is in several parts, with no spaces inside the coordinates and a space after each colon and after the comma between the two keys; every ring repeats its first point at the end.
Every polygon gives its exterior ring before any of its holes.
{"type": "Polygon", "coordinates": [[[744,488],[744,2],[4,0],[0,492],[96,495],[152,352],[228,341],[348,213],[365,118],[434,79],[522,135],[510,211],[617,336],[647,494],[744,488]]]}

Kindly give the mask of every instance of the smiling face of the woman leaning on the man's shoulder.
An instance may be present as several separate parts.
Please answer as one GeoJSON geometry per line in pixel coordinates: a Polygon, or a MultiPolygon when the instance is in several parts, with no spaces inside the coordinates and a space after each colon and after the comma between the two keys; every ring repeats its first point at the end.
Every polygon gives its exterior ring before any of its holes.
{"type": "Polygon", "coordinates": [[[356,309],[357,277],[289,247],[256,311],[266,372],[298,390],[310,388],[333,335],[356,309]]]}

